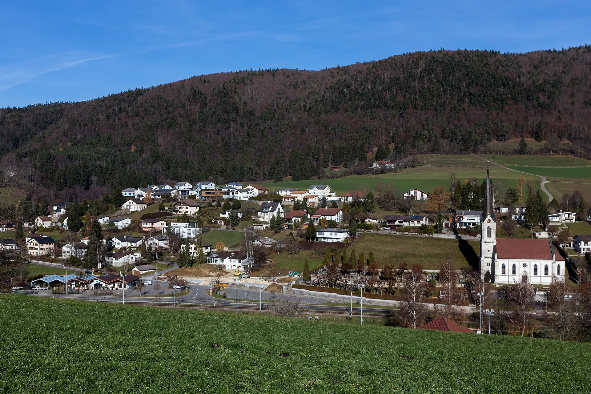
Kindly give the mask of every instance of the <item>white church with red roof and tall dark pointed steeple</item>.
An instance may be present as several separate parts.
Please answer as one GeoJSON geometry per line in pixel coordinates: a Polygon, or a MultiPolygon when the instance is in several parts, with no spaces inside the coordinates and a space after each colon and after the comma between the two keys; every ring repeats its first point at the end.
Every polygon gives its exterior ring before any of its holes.
{"type": "Polygon", "coordinates": [[[496,284],[551,285],[564,282],[566,262],[551,239],[496,239],[491,178],[486,168],[486,190],[480,221],[480,274],[491,273],[496,284]]]}

